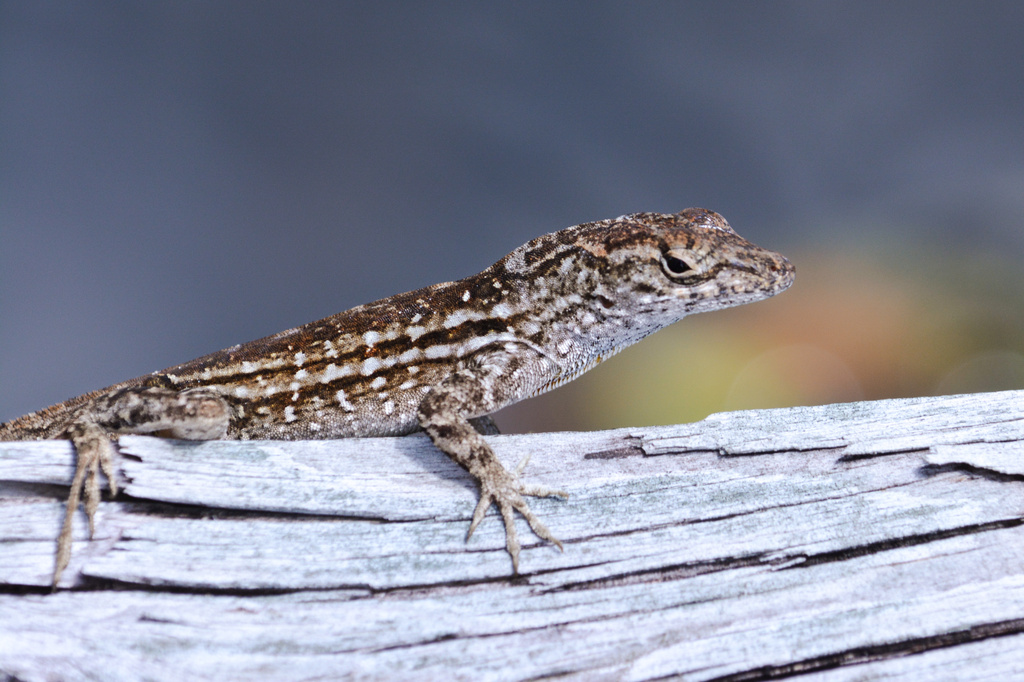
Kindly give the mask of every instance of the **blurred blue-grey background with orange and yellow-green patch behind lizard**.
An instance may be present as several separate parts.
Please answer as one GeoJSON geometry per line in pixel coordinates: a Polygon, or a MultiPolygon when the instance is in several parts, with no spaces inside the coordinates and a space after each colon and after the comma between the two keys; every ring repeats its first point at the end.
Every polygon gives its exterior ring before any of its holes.
{"type": "Polygon", "coordinates": [[[3,1],[0,421],[688,206],[794,289],[500,424],[1024,386],[1024,3],[3,1]]]}

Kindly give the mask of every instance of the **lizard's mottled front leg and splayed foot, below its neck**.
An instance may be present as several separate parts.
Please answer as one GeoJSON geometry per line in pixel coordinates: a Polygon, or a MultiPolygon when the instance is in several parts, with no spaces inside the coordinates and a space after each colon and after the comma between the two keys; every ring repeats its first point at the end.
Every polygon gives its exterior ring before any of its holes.
{"type": "Polygon", "coordinates": [[[512,556],[512,570],[519,572],[519,539],[513,510],[522,514],[539,538],[562,544],[541,522],[523,496],[561,497],[568,494],[540,485],[525,485],[519,474],[528,461],[524,458],[510,473],[480,437],[471,421],[526,397],[558,373],[547,356],[521,343],[505,343],[477,351],[459,370],[434,386],[420,403],[420,426],[434,444],[459,463],[480,486],[480,500],[473,511],[468,540],[492,504],[498,506],[505,522],[505,545],[512,556]]]}

